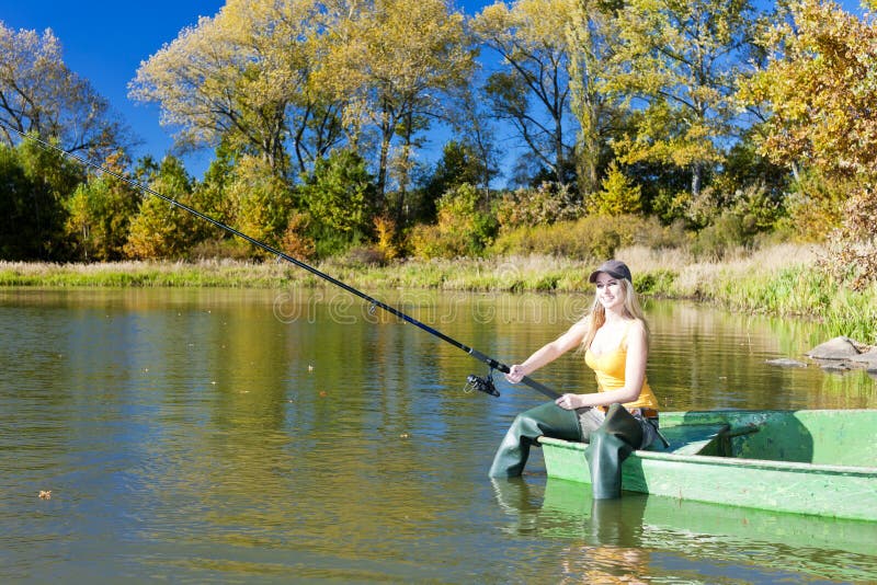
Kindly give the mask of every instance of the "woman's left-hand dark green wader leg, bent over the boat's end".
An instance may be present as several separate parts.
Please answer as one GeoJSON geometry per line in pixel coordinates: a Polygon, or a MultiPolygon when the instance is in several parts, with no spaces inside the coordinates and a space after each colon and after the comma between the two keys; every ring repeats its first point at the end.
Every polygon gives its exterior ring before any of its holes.
{"type": "Polygon", "coordinates": [[[546,402],[515,416],[493,457],[490,477],[520,475],[527,462],[529,447],[543,435],[566,440],[581,440],[579,416],[576,411],[568,411],[554,402],[546,402]]]}

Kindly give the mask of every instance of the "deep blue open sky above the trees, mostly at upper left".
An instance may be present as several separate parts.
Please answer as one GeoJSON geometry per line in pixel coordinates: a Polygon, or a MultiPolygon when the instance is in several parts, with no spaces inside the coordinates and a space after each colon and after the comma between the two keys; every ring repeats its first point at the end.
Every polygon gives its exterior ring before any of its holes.
{"type": "MultiPolygon", "coordinates": [[[[417,1],[417,0],[412,0],[417,1]]],[[[492,0],[459,2],[468,14],[492,0]]],[[[52,28],[61,43],[67,66],[87,78],[106,97],[144,144],[134,152],[161,158],[172,145],[159,125],[157,105],[137,104],[127,97],[127,84],[140,62],[200,16],[213,16],[225,0],[151,0],[149,2],[0,0],[0,21],[14,30],[52,28]]],[[[190,173],[201,177],[213,152],[186,157],[190,173]]]]}

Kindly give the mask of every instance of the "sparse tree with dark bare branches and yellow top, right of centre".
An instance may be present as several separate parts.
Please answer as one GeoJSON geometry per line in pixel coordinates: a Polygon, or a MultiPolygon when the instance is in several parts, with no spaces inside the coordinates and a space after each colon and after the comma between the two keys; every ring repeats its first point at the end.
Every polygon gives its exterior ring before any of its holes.
{"type": "Polygon", "coordinates": [[[570,37],[573,0],[497,2],[472,22],[478,38],[506,64],[486,92],[500,119],[510,123],[528,154],[556,181],[569,180],[574,117],[570,115],[570,37]]]}

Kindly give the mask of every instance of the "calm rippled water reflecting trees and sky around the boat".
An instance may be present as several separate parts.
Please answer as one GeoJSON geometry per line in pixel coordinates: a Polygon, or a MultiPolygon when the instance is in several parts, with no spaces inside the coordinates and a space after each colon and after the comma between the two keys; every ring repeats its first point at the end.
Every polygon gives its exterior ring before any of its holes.
{"type": "MultiPolygon", "coordinates": [[[[387,291],[505,363],[584,296],[387,291]]],[[[333,289],[0,289],[0,582],[874,582],[877,526],[487,470],[543,401],[333,289]],[[39,492],[50,491],[49,497],[39,492]]],[[[877,408],[813,323],[646,302],[664,410],[877,408]]],[[[566,356],[534,376],[590,391],[566,356]]],[[[44,494],[45,495],[45,494],[44,494]]]]}

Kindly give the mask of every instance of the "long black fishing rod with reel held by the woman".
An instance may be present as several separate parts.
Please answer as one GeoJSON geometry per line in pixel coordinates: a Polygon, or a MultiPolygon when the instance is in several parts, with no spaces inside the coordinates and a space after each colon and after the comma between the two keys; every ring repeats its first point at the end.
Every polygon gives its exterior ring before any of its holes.
{"type": "MultiPolygon", "coordinates": [[[[136,188],[138,191],[141,191],[144,193],[148,193],[149,195],[156,196],[156,197],[158,197],[158,198],[160,198],[160,199],[162,199],[162,200],[164,200],[164,202],[167,202],[167,203],[169,203],[169,204],[171,204],[171,205],[173,205],[175,207],[179,207],[180,209],[183,209],[184,211],[187,211],[187,213],[194,215],[195,217],[198,217],[198,218],[201,218],[201,219],[203,219],[203,220],[205,220],[205,221],[207,221],[209,223],[213,223],[217,228],[220,228],[220,229],[223,229],[223,230],[225,230],[225,231],[227,231],[227,232],[229,232],[229,233],[231,233],[234,236],[237,236],[238,238],[241,238],[242,240],[246,240],[246,241],[250,242],[251,244],[255,245],[257,248],[260,248],[260,249],[264,250],[265,252],[270,252],[272,255],[277,256],[277,259],[285,260],[286,262],[289,262],[291,264],[294,264],[294,265],[298,266],[299,268],[304,268],[304,269],[308,271],[309,273],[311,273],[311,274],[314,274],[316,276],[319,276],[323,280],[327,280],[327,282],[329,282],[329,283],[331,283],[331,284],[333,284],[333,285],[346,290],[351,295],[354,295],[354,296],[360,297],[361,299],[367,301],[371,305],[371,310],[372,311],[374,311],[374,308],[376,308],[376,307],[380,308],[380,309],[387,311],[388,313],[401,319],[406,323],[410,323],[410,324],[412,324],[414,326],[418,326],[418,328],[422,329],[423,331],[425,331],[426,333],[435,335],[440,340],[442,340],[442,341],[444,341],[446,343],[449,343],[454,347],[463,349],[464,352],[466,352],[467,354],[472,356],[475,359],[477,359],[477,360],[479,360],[479,362],[481,362],[483,364],[487,364],[487,366],[489,368],[486,376],[477,376],[475,374],[470,374],[466,378],[466,388],[469,389],[469,390],[478,390],[479,392],[485,392],[486,394],[490,394],[490,395],[493,395],[493,397],[499,397],[500,395],[499,390],[497,390],[497,387],[493,383],[493,370],[496,369],[496,370],[499,370],[499,371],[501,371],[503,374],[509,374],[509,370],[510,370],[509,366],[506,366],[502,362],[493,359],[489,355],[482,354],[481,352],[479,352],[479,351],[477,351],[477,349],[475,349],[472,347],[469,347],[468,345],[466,345],[464,343],[458,342],[457,340],[451,337],[449,335],[446,335],[446,334],[442,333],[437,329],[434,329],[434,328],[432,328],[432,326],[430,326],[430,325],[428,325],[428,324],[425,324],[425,323],[423,323],[421,321],[418,321],[413,317],[411,317],[409,314],[406,314],[405,312],[400,311],[396,307],[392,307],[390,305],[381,302],[378,299],[366,295],[362,290],[358,290],[358,289],[350,286],[349,284],[343,283],[343,282],[341,282],[341,280],[339,280],[339,279],[326,274],[324,272],[321,272],[318,268],[315,268],[314,266],[311,266],[309,264],[306,264],[306,263],[301,262],[300,260],[286,254],[285,252],[283,252],[281,250],[277,250],[276,248],[274,248],[272,245],[269,245],[269,244],[266,244],[264,242],[261,242],[261,241],[257,240],[255,238],[252,238],[252,237],[243,233],[242,231],[240,231],[238,229],[235,229],[231,226],[219,221],[218,219],[215,219],[215,218],[213,218],[213,217],[210,217],[210,216],[208,216],[206,214],[203,214],[203,213],[198,211],[197,209],[194,209],[194,208],[192,208],[192,207],[190,207],[190,206],[187,206],[187,205],[185,205],[183,203],[178,202],[176,199],[168,197],[167,195],[162,195],[161,193],[159,193],[159,192],[157,192],[157,191],[155,191],[155,190],[152,190],[152,188],[150,188],[150,187],[148,187],[146,185],[143,185],[143,184],[138,183],[137,181],[134,181],[133,179],[128,179],[126,176],[123,176],[122,174],[119,174],[119,173],[117,173],[115,171],[111,171],[110,169],[106,169],[106,168],[104,168],[104,167],[102,167],[102,165],[100,165],[100,164],[98,164],[95,162],[92,162],[92,161],[90,161],[90,160],[88,160],[88,159],[86,159],[83,157],[75,154],[73,152],[69,152],[67,150],[64,150],[60,147],[57,147],[57,146],[52,145],[49,142],[46,142],[45,140],[42,140],[42,139],[39,139],[37,137],[27,135],[25,133],[22,133],[21,130],[15,129],[15,128],[10,128],[10,127],[5,126],[5,124],[3,124],[3,123],[0,123],[0,126],[2,126],[3,128],[5,128],[8,130],[14,131],[15,134],[22,136],[23,138],[33,140],[34,142],[38,144],[41,147],[43,147],[46,150],[55,150],[57,152],[60,152],[65,157],[71,158],[73,160],[77,160],[77,161],[79,161],[80,163],[82,163],[82,164],[84,164],[87,167],[91,167],[92,169],[95,169],[95,170],[98,170],[98,171],[100,171],[100,172],[102,172],[104,174],[113,176],[113,177],[115,177],[115,179],[117,179],[117,180],[130,185],[132,187],[134,187],[134,188],[136,188]]],[[[529,378],[527,376],[524,376],[521,379],[521,381],[523,383],[525,383],[526,386],[528,386],[529,388],[532,388],[532,389],[534,389],[534,390],[536,390],[538,392],[542,392],[543,394],[545,394],[548,398],[556,399],[556,398],[558,398],[560,395],[558,392],[555,392],[554,390],[551,390],[547,386],[545,386],[543,383],[539,383],[536,380],[533,380],[532,378],[529,378]]]]}

